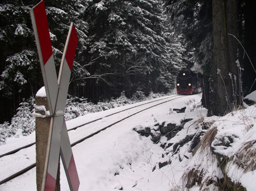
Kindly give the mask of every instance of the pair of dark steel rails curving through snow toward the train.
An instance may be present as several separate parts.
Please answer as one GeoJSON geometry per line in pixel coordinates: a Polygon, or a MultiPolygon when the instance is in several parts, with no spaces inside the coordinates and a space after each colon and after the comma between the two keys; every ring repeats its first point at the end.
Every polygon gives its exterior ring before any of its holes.
{"type": "MultiPolygon", "coordinates": [[[[174,95],[174,96],[168,96],[168,97],[164,97],[164,98],[162,98],[162,99],[158,99],[158,100],[154,100],[154,101],[149,101],[149,102],[147,102],[147,103],[143,103],[143,104],[136,105],[136,106],[134,106],[134,107],[130,107],[130,108],[127,108],[127,109],[123,109],[122,111],[118,111],[118,112],[115,112],[115,113],[112,113],[112,114],[108,114],[108,115],[106,115],[106,116],[104,116],[104,117],[96,118],[95,120],[92,120],[92,121],[86,122],[86,123],[84,123],[84,124],[81,124],[81,125],[79,125],[79,126],[75,126],[74,128],[68,129],[68,131],[76,130],[76,129],[78,129],[78,128],[85,127],[85,126],[88,125],[88,124],[92,124],[93,122],[102,120],[103,118],[113,116],[114,114],[118,114],[118,113],[121,113],[121,112],[128,111],[128,110],[130,110],[130,109],[134,109],[134,108],[137,108],[137,107],[141,107],[142,105],[147,105],[147,104],[151,104],[151,103],[154,103],[154,102],[157,102],[157,101],[161,101],[160,103],[151,105],[150,107],[146,107],[146,108],[144,108],[144,109],[141,109],[141,110],[139,110],[139,111],[136,111],[136,112],[134,112],[134,113],[131,113],[131,114],[129,114],[128,116],[123,117],[123,118],[121,118],[121,119],[118,120],[118,121],[112,122],[112,124],[107,125],[107,126],[105,126],[104,128],[101,128],[101,129],[99,129],[99,130],[96,130],[96,131],[94,131],[94,133],[90,133],[89,135],[86,135],[85,137],[80,138],[79,140],[77,140],[77,141],[71,143],[71,146],[73,147],[73,146],[75,146],[75,145],[81,143],[82,141],[85,141],[85,139],[88,139],[88,138],[90,138],[90,137],[93,137],[94,135],[100,133],[101,131],[103,131],[103,130],[105,130],[105,129],[108,129],[108,128],[110,128],[111,126],[113,126],[113,125],[115,125],[115,124],[118,124],[119,122],[121,122],[121,121],[123,121],[123,120],[126,120],[127,118],[129,118],[129,117],[131,117],[131,116],[134,116],[135,114],[141,113],[141,112],[143,112],[143,111],[146,111],[147,109],[150,109],[150,108],[152,108],[152,107],[156,107],[156,106],[158,106],[158,105],[160,105],[160,104],[167,103],[168,101],[172,101],[172,100],[175,100],[175,99],[179,99],[180,97],[183,97],[183,96],[174,95]]],[[[6,152],[5,154],[0,155],[0,158],[3,158],[3,156],[15,154],[16,152],[18,152],[18,151],[20,151],[20,150],[23,150],[23,149],[25,149],[25,148],[31,147],[31,146],[33,146],[33,145],[35,145],[35,142],[34,142],[34,143],[30,143],[30,144],[25,145],[25,146],[22,146],[22,147],[19,147],[19,148],[16,148],[15,150],[6,152]]],[[[9,176],[9,177],[6,177],[4,180],[1,180],[1,181],[0,181],[0,185],[1,185],[1,184],[4,184],[4,183],[6,183],[6,182],[8,182],[8,181],[10,181],[10,180],[12,180],[12,179],[14,179],[15,177],[18,177],[18,176],[22,175],[23,173],[25,173],[25,172],[29,171],[30,169],[34,168],[35,166],[36,166],[36,163],[31,164],[31,165],[28,165],[28,167],[21,169],[19,172],[16,172],[16,173],[14,173],[13,175],[11,175],[11,176],[9,176]]]]}

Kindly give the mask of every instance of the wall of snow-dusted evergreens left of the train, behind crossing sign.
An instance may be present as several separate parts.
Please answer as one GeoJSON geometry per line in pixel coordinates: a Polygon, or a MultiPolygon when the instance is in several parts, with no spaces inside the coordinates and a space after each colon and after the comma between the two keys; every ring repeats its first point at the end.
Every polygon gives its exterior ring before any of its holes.
{"type": "MultiPolygon", "coordinates": [[[[0,122],[43,86],[30,11],[35,0],[0,4],[0,122]]],[[[45,1],[58,71],[69,24],[79,35],[69,94],[99,101],[167,92],[186,64],[162,1],[45,1]]]]}

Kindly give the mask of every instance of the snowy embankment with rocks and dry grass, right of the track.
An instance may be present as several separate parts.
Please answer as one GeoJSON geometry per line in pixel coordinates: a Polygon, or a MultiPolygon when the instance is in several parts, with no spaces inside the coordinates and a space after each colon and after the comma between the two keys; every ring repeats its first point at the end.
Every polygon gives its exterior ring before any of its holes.
{"type": "MultiPolygon", "coordinates": [[[[255,104],[255,96],[245,98],[255,104]]],[[[154,126],[154,131],[165,136],[158,143],[164,148],[162,159],[151,176],[159,173],[162,181],[166,177],[170,184],[168,189],[158,190],[255,190],[256,105],[224,117],[205,117],[203,113],[203,109],[187,109],[181,125],[164,119],[159,121],[159,129],[154,126]],[[200,111],[200,117],[191,116],[200,111]]],[[[137,131],[145,135],[148,129],[139,126],[137,131]]]]}

